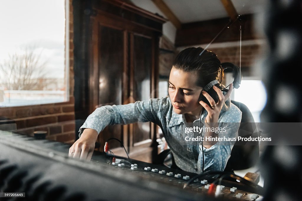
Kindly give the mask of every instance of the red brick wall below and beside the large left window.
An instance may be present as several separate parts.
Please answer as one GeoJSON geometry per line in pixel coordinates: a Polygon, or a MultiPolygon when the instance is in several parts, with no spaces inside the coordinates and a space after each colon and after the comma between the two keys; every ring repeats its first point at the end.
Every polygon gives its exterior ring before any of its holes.
{"type": "Polygon", "coordinates": [[[33,136],[35,130],[47,131],[47,139],[73,143],[75,140],[73,7],[69,1],[69,101],[45,105],[2,107],[0,116],[13,119],[17,131],[33,136]]]}

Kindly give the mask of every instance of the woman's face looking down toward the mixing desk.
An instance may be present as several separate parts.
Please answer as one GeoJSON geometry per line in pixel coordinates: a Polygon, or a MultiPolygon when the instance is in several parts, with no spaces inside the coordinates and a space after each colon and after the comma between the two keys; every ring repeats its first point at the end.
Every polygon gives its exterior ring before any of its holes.
{"type": "Polygon", "coordinates": [[[176,114],[198,115],[202,106],[198,102],[202,87],[196,86],[194,72],[172,67],[169,78],[169,96],[176,114]]]}

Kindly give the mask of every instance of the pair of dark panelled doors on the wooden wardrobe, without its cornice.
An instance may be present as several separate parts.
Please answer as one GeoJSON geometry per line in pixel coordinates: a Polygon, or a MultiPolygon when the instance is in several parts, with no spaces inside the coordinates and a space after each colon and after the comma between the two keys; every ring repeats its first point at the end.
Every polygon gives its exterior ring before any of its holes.
{"type": "MultiPolygon", "coordinates": [[[[114,19],[95,17],[92,25],[92,59],[90,71],[90,111],[103,105],[119,105],[149,100],[154,97],[154,47],[158,42],[152,32],[140,34],[136,26],[114,26],[114,19]],[[110,22],[110,23],[108,23],[110,22]],[[152,95],[153,93],[153,95],[152,95]]],[[[121,140],[133,159],[152,161],[154,124],[112,125],[99,135],[101,143],[110,137],[121,140]]],[[[126,156],[114,140],[110,149],[115,155],[126,156]]],[[[157,153],[157,150],[156,150],[157,153]]]]}

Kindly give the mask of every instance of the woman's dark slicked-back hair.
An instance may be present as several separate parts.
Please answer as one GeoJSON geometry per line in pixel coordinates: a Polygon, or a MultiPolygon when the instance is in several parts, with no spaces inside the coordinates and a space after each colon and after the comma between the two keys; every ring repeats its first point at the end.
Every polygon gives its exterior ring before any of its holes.
{"type": "Polygon", "coordinates": [[[176,56],[173,67],[185,72],[195,71],[197,78],[197,86],[204,87],[212,80],[219,80],[223,76],[222,67],[217,55],[214,52],[205,50],[201,47],[190,47],[182,50],[176,56]]]}

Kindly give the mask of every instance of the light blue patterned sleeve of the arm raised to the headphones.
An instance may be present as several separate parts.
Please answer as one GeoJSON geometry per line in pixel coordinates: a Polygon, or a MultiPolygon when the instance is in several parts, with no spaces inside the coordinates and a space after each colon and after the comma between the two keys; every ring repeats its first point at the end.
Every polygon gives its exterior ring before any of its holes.
{"type": "MultiPolygon", "coordinates": [[[[238,108],[237,108],[238,109],[238,108]]],[[[223,122],[230,123],[226,128],[226,132],[223,132],[223,135],[230,138],[238,137],[238,129],[241,121],[241,111],[232,110],[229,114],[225,115],[220,120],[220,125],[223,122]]],[[[235,142],[233,142],[235,143],[235,142]]],[[[231,150],[233,145],[227,145],[226,143],[217,142],[215,145],[211,146],[209,149],[201,146],[199,143],[199,155],[197,161],[198,174],[202,173],[202,165],[203,165],[203,155],[202,150],[204,149],[204,171],[215,170],[215,171],[223,171],[226,167],[226,163],[230,158],[231,150]]]]}

